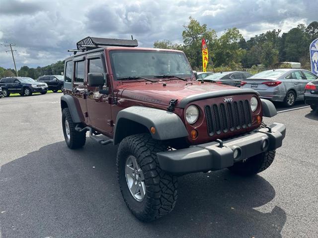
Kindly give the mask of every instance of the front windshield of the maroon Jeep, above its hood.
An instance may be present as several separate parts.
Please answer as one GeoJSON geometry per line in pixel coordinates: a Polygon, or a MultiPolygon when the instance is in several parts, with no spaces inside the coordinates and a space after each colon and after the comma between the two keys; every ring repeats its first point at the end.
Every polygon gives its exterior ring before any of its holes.
{"type": "Polygon", "coordinates": [[[184,54],[164,51],[110,51],[116,79],[129,76],[153,78],[158,75],[190,77],[191,68],[184,54]]]}

